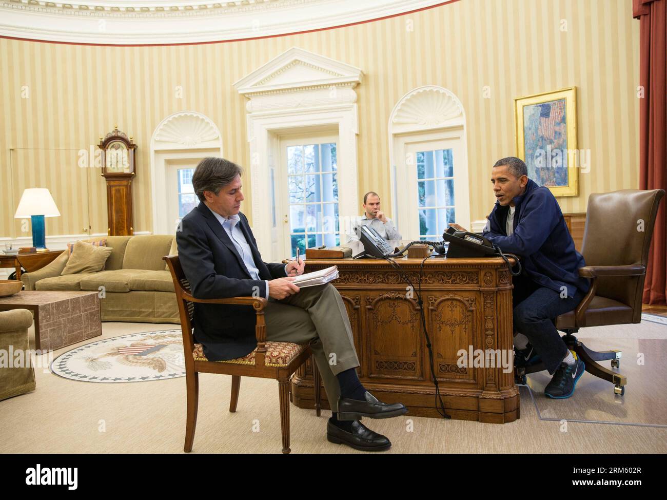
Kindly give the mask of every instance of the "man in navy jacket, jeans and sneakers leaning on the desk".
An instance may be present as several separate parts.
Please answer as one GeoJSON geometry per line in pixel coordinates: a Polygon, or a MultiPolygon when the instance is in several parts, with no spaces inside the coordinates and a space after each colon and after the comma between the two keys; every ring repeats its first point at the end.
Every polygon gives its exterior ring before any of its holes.
{"type": "Polygon", "coordinates": [[[512,280],[514,330],[519,332],[514,336],[514,362],[525,366],[538,354],[554,374],[545,395],[568,398],[586,367],[561,340],[554,320],[573,310],[588,292],[590,283],[578,273],[586,265],[584,258],[574,248],[556,198],[528,179],[522,160],[498,160],[491,182],[498,201],[482,235],[503,252],[518,255],[523,266],[512,280]]]}

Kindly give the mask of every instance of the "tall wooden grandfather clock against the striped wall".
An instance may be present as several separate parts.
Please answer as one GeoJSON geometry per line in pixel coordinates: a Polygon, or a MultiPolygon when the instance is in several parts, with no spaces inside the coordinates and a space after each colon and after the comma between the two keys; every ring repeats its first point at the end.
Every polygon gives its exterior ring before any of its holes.
{"type": "Polygon", "coordinates": [[[134,234],[132,220],[132,180],[135,176],[134,152],[137,145],[118,126],[97,145],[102,150],[102,177],[107,180],[107,218],[109,236],[134,234]]]}

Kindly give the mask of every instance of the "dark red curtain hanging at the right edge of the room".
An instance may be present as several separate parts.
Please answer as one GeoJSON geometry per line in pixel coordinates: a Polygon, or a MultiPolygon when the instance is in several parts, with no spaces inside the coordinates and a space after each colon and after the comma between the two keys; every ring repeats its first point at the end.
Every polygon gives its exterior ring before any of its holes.
{"type": "MultiPolygon", "coordinates": [[[[667,0],[632,0],[640,21],[640,189],[667,190],[667,0]],[[640,90],[641,91],[641,90],[640,90]]],[[[660,203],[648,254],[644,304],[665,304],[667,295],[667,202],[660,203]]]]}

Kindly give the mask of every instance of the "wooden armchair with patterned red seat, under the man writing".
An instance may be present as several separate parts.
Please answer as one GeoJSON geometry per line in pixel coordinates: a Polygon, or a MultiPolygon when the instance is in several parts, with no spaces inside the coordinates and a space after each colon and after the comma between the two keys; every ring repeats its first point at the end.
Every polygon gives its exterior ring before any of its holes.
{"type": "MultiPolygon", "coordinates": [[[[220,373],[231,375],[231,400],[229,411],[236,411],[239,399],[241,376],[276,379],[280,401],[280,427],[283,439],[283,453],[289,453],[289,379],[291,375],[312,356],[309,344],[293,344],[292,342],[271,342],[266,340],[266,324],[264,322],[265,298],[232,297],[232,298],[195,298],[191,294],[190,285],[185,278],[183,268],[177,255],[164,256],[167,262],[178,301],[183,333],[183,349],[185,350],[185,383],[187,385],[187,421],[185,425],[185,446],[183,451],[192,451],[197,425],[197,403],[199,400],[199,373],[220,373]],[[194,303],[202,304],[239,304],[252,306],[257,315],[255,335],[257,347],[243,356],[226,361],[209,361],[203,354],[201,344],[195,344],[193,338],[192,317],[194,303]]],[[[317,417],[321,413],[320,377],[314,358],[313,379],[315,385],[315,411],[317,417]]]]}

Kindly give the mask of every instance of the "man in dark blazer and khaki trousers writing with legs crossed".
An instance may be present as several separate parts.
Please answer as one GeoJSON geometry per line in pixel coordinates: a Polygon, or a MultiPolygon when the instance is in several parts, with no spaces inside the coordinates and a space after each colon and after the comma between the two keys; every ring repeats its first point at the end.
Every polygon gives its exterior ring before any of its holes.
{"type": "MultiPolygon", "coordinates": [[[[247,218],[240,212],[242,173],[233,162],[205,158],[193,174],[201,203],[183,218],[176,234],[179,260],[193,296],[267,298],[267,340],[298,344],[313,340],[311,348],[333,413],[327,439],[364,451],[388,449],[389,439],[359,419],[397,417],[408,410],[401,403],[378,401],[359,381],[352,327],[338,290],[331,284],[299,290],[293,280],[303,273],[303,261],[283,265],[261,260],[247,218]]],[[[250,306],[195,303],[193,325],[195,340],[209,360],[239,358],[257,346],[250,306]]]]}

